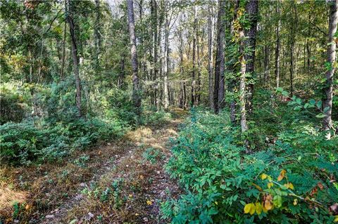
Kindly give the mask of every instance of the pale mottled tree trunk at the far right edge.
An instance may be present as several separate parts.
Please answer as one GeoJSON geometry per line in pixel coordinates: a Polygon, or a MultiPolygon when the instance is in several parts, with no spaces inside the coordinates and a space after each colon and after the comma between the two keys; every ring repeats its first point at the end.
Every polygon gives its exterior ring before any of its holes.
{"type": "MultiPolygon", "coordinates": [[[[330,17],[329,17],[329,37],[328,37],[328,46],[327,46],[327,62],[330,63],[330,70],[326,72],[326,86],[325,86],[325,95],[324,108],[326,115],[323,119],[323,129],[328,131],[332,129],[332,96],[333,96],[333,75],[334,75],[334,62],[336,61],[336,42],[334,34],[337,32],[337,20],[338,20],[338,0],[329,1],[330,4],[330,17]]],[[[327,132],[326,137],[331,138],[331,133],[327,132]]]]}

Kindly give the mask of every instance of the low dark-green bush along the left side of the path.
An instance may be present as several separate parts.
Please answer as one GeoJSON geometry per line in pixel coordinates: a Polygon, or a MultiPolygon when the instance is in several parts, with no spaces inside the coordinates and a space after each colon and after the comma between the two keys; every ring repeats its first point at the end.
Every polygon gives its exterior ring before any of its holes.
{"type": "Polygon", "coordinates": [[[123,135],[117,121],[77,119],[70,123],[7,123],[0,126],[1,161],[8,164],[30,164],[35,160],[61,159],[73,150],[86,149],[99,140],[123,135]]]}

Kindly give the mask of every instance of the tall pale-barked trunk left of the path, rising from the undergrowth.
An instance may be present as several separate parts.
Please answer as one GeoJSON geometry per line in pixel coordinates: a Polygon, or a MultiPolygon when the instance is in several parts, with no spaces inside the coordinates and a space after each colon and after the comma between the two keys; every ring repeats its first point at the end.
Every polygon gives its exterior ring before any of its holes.
{"type": "Polygon", "coordinates": [[[137,65],[137,51],[136,51],[136,37],[135,37],[135,25],[134,25],[134,2],[133,0],[127,0],[128,10],[128,27],[130,35],[130,53],[132,59],[132,101],[134,107],[136,107],[137,114],[141,114],[141,89],[139,86],[139,74],[137,65]]]}

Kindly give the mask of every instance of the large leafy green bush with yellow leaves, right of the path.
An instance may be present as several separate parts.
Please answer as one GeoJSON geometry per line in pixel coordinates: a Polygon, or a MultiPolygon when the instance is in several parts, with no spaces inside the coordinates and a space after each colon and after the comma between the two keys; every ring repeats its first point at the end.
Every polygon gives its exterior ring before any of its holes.
{"type": "Polygon", "coordinates": [[[284,133],[267,150],[244,154],[227,121],[225,113],[192,113],[166,167],[186,193],[163,203],[163,218],[172,223],[333,222],[337,139],[299,133],[289,143],[284,133]],[[302,135],[308,139],[302,141],[302,135]]]}

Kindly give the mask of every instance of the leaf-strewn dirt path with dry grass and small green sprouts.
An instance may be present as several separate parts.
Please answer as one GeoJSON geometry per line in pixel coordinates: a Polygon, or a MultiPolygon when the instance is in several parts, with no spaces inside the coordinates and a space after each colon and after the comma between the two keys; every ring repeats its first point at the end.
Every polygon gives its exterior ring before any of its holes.
{"type": "Polygon", "coordinates": [[[163,223],[161,202],[180,192],[164,170],[170,138],[186,116],[173,114],[166,124],[139,127],[62,163],[1,168],[0,217],[5,223],[163,223]]]}

